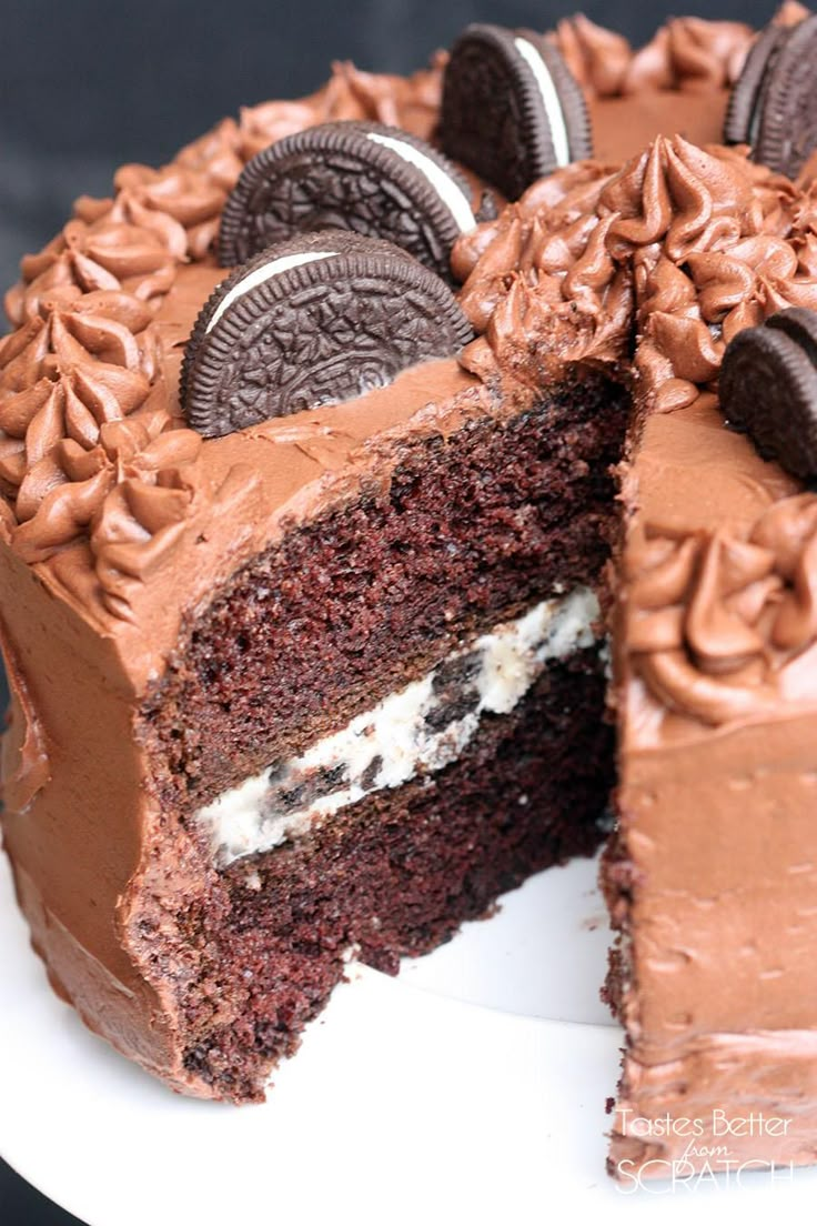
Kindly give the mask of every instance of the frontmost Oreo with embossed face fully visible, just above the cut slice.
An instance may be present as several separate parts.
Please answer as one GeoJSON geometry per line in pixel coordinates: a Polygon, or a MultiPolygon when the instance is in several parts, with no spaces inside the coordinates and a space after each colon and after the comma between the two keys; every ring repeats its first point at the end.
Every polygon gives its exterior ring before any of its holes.
{"type": "Polygon", "coordinates": [[[181,406],[214,438],[360,396],[472,336],[445,282],[392,243],[304,234],[209,297],[187,342],[181,406]]]}

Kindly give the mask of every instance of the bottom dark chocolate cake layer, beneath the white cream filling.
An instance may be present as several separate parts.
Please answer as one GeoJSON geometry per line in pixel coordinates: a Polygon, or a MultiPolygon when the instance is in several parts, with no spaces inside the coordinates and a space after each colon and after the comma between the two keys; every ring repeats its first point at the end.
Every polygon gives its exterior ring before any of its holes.
{"type": "Polygon", "coordinates": [[[593,852],[611,782],[604,690],[595,649],[552,662],[452,765],[220,873],[179,917],[211,950],[180,984],[187,1069],[219,1096],[260,1097],[350,953],[394,972],[530,872],[593,852]]]}

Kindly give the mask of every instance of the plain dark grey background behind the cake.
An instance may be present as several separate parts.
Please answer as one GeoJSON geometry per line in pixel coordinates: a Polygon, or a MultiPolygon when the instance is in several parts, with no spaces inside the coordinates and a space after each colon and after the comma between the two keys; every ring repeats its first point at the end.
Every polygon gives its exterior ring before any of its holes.
{"type": "MultiPolygon", "coordinates": [[[[774,5],[588,0],[583,9],[641,43],[672,12],[763,25],[774,5]]],[[[116,166],[160,164],[243,104],[309,93],[332,59],[407,72],[469,21],[545,29],[571,11],[552,0],[1,0],[0,286],[60,228],[75,196],[109,192],[116,166]]],[[[0,1160],[2,1226],[70,1221],[0,1160]]]]}

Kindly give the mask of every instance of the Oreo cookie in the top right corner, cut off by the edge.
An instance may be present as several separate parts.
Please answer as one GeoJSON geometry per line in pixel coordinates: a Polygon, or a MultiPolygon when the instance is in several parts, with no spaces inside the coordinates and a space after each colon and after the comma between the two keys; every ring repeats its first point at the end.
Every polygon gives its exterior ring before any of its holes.
{"type": "Polygon", "coordinates": [[[735,83],[724,140],[750,145],[752,158],[794,179],[817,147],[817,16],[770,25],[735,83]]]}

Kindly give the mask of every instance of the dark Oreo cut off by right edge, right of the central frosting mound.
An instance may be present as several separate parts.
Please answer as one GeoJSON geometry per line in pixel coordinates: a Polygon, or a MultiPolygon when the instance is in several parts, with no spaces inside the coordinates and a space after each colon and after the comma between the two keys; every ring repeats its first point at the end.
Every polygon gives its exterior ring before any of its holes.
{"type": "Polygon", "coordinates": [[[804,481],[817,476],[817,311],[770,315],[726,346],[720,407],[764,460],[804,481]]]}

